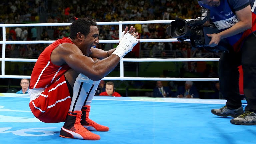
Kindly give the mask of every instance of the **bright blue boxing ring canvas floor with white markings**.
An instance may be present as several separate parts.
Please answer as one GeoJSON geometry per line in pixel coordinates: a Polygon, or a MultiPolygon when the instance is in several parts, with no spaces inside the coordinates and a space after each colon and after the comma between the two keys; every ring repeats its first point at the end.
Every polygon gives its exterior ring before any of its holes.
{"type": "MultiPolygon", "coordinates": [[[[43,123],[28,95],[0,93],[0,144],[252,144],[256,126],[233,125],[211,114],[226,100],[94,97],[90,118],[109,127],[98,141],[59,137],[63,123],[43,123]]],[[[243,105],[246,102],[243,101],[243,105]]]]}

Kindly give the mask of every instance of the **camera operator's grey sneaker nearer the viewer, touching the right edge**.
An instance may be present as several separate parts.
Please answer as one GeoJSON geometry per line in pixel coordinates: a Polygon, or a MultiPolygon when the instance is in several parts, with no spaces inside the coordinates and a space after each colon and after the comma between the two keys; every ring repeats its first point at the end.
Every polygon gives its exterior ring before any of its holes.
{"type": "Polygon", "coordinates": [[[254,112],[245,111],[237,118],[231,119],[230,122],[238,125],[256,125],[256,114],[254,112]]]}

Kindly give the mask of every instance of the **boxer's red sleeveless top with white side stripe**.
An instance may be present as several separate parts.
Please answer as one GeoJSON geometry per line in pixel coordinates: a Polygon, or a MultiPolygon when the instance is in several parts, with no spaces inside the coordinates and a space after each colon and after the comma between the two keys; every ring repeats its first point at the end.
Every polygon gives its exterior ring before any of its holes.
{"type": "Polygon", "coordinates": [[[40,54],[31,74],[31,81],[29,87],[30,89],[46,88],[48,85],[50,85],[52,82],[55,82],[57,78],[59,78],[67,70],[70,69],[70,67],[67,64],[57,66],[54,65],[50,60],[52,51],[62,43],[73,44],[73,42],[68,37],[64,37],[50,44],[40,54]]]}

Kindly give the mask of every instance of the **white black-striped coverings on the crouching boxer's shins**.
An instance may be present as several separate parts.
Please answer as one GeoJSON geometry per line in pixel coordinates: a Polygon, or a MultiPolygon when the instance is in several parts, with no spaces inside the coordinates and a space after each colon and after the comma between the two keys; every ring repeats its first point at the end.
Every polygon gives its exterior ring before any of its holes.
{"type": "Polygon", "coordinates": [[[69,111],[80,111],[84,105],[91,105],[91,101],[99,86],[99,81],[93,81],[83,74],[79,74],[73,88],[73,97],[69,111]]]}

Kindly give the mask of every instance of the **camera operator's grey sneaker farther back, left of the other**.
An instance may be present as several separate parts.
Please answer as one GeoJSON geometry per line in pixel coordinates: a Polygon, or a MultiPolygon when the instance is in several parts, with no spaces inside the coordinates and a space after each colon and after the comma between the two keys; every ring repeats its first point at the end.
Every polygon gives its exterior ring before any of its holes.
{"type": "Polygon", "coordinates": [[[211,112],[217,116],[232,116],[233,118],[238,117],[239,115],[244,113],[244,110],[242,107],[238,108],[238,109],[229,109],[227,106],[224,106],[220,109],[212,109],[211,112]]]}

